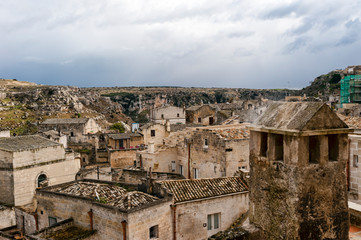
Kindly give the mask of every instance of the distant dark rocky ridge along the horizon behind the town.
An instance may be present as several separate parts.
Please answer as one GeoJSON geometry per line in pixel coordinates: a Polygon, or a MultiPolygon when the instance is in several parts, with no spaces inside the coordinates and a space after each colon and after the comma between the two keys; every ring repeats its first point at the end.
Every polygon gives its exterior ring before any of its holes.
{"type": "Polygon", "coordinates": [[[93,88],[102,96],[122,105],[124,113],[134,121],[145,121],[147,109],[153,106],[171,104],[189,107],[196,104],[226,103],[247,99],[267,98],[284,99],[292,90],[262,90],[236,88],[181,88],[181,87],[129,87],[129,88],[93,88]]]}

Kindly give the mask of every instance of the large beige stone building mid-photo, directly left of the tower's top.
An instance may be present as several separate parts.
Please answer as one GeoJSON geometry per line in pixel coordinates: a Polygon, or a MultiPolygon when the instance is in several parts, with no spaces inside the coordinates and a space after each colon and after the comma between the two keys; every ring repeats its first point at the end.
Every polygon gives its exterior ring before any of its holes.
{"type": "Polygon", "coordinates": [[[247,124],[187,128],[174,132],[164,144],[137,152],[137,166],[174,172],[186,178],[233,176],[249,169],[247,124]]]}

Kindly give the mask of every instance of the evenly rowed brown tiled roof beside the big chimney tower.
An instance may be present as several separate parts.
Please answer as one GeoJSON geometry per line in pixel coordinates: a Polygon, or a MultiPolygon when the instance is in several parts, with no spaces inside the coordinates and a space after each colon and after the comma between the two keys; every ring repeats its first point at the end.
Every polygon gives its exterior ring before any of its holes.
{"type": "Polygon", "coordinates": [[[239,177],[172,180],[161,184],[173,193],[176,203],[248,191],[239,177]]]}

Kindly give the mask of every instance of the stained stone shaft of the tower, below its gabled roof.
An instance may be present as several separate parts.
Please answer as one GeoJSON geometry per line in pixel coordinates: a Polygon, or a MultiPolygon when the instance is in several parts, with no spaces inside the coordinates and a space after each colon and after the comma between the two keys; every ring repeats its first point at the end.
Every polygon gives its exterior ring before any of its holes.
{"type": "Polygon", "coordinates": [[[332,146],[337,160],[329,155],[328,135],[315,136],[315,144],[309,136],[283,135],[277,158],[274,135],[251,131],[250,222],[270,240],[348,239],[347,134],[332,146]]]}

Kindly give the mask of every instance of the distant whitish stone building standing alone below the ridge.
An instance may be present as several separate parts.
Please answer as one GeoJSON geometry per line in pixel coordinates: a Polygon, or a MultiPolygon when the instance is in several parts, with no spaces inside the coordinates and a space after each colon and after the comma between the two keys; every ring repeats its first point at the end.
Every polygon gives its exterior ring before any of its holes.
{"type": "Polygon", "coordinates": [[[150,109],[149,118],[152,122],[164,124],[168,121],[170,124],[185,124],[185,110],[181,107],[163,106],[150,109]]]}

